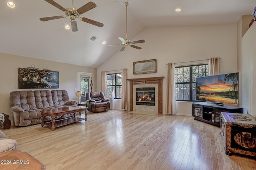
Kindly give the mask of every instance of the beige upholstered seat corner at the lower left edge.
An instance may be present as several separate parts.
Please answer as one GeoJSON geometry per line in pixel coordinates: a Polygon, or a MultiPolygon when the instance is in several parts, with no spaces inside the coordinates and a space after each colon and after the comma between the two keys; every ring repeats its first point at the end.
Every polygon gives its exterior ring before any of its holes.
{"type": "Polygon", "coordinates": [[[9,139],[2,131],[0,131],[0,153],[9,150],[18,150],[17,141],[9,139]]]}

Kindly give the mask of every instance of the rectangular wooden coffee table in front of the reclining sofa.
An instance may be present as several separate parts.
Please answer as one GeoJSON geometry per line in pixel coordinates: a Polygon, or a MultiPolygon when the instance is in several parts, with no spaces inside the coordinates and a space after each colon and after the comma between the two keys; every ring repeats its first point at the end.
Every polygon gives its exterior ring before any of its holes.
{"type": "Polygon", "coordinates": [[[49,126],[54,130],[56,127],[60,127],[63,125],[68,125],[70,123],[74,123],[77,121],[87,120],[87,107],[84,106],[66,106],[66,107],[60,107],[55,109],[46,109],[41,111],[41,125],[44,127],[44,125],[49,126]],[[85,118],[76,117],[76,112],[84,111],[85,118]],[[73,117],[67,117],[65,119],[58,119],[55,120],[56,116],[66,115],[74,113],[73,117]],[[44,122],[44,117],[50,116],[52,117],[52,121],[44,122]]]}

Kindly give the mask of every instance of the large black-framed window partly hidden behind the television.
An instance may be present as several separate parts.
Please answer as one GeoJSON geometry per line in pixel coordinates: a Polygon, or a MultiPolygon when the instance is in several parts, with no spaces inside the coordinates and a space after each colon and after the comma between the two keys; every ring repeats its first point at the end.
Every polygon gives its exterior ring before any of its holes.
{"type": "Polygon", "coordinates": [[[196,100],[196,78],[208,76],[208,64],[181,66],[175,68],[175,89],[177,101],[196,100]]]}

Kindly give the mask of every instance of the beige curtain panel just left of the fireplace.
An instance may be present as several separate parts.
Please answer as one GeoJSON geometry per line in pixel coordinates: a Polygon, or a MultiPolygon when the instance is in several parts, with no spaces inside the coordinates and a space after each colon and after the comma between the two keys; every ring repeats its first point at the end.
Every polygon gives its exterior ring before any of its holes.
{"type": "Polygon", "coordinates": [[[126,78],[127,78],[127,69],[123,68],[122,69],[122,98],[121,98],[122,107],[121,109],[128,110],[128,94],[127,94],[126,78]]]}

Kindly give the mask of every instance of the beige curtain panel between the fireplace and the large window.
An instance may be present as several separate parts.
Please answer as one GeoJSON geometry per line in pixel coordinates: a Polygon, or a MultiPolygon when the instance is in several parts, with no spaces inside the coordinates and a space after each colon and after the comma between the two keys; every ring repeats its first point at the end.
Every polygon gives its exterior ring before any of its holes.
{"type": "Polygon", "coordinates": [[[176,114],[175,99],[175,65],[168,63],[167,72],[167,90],[166,90],[166,107],[165,112],[168,114],[176,114]]]}

